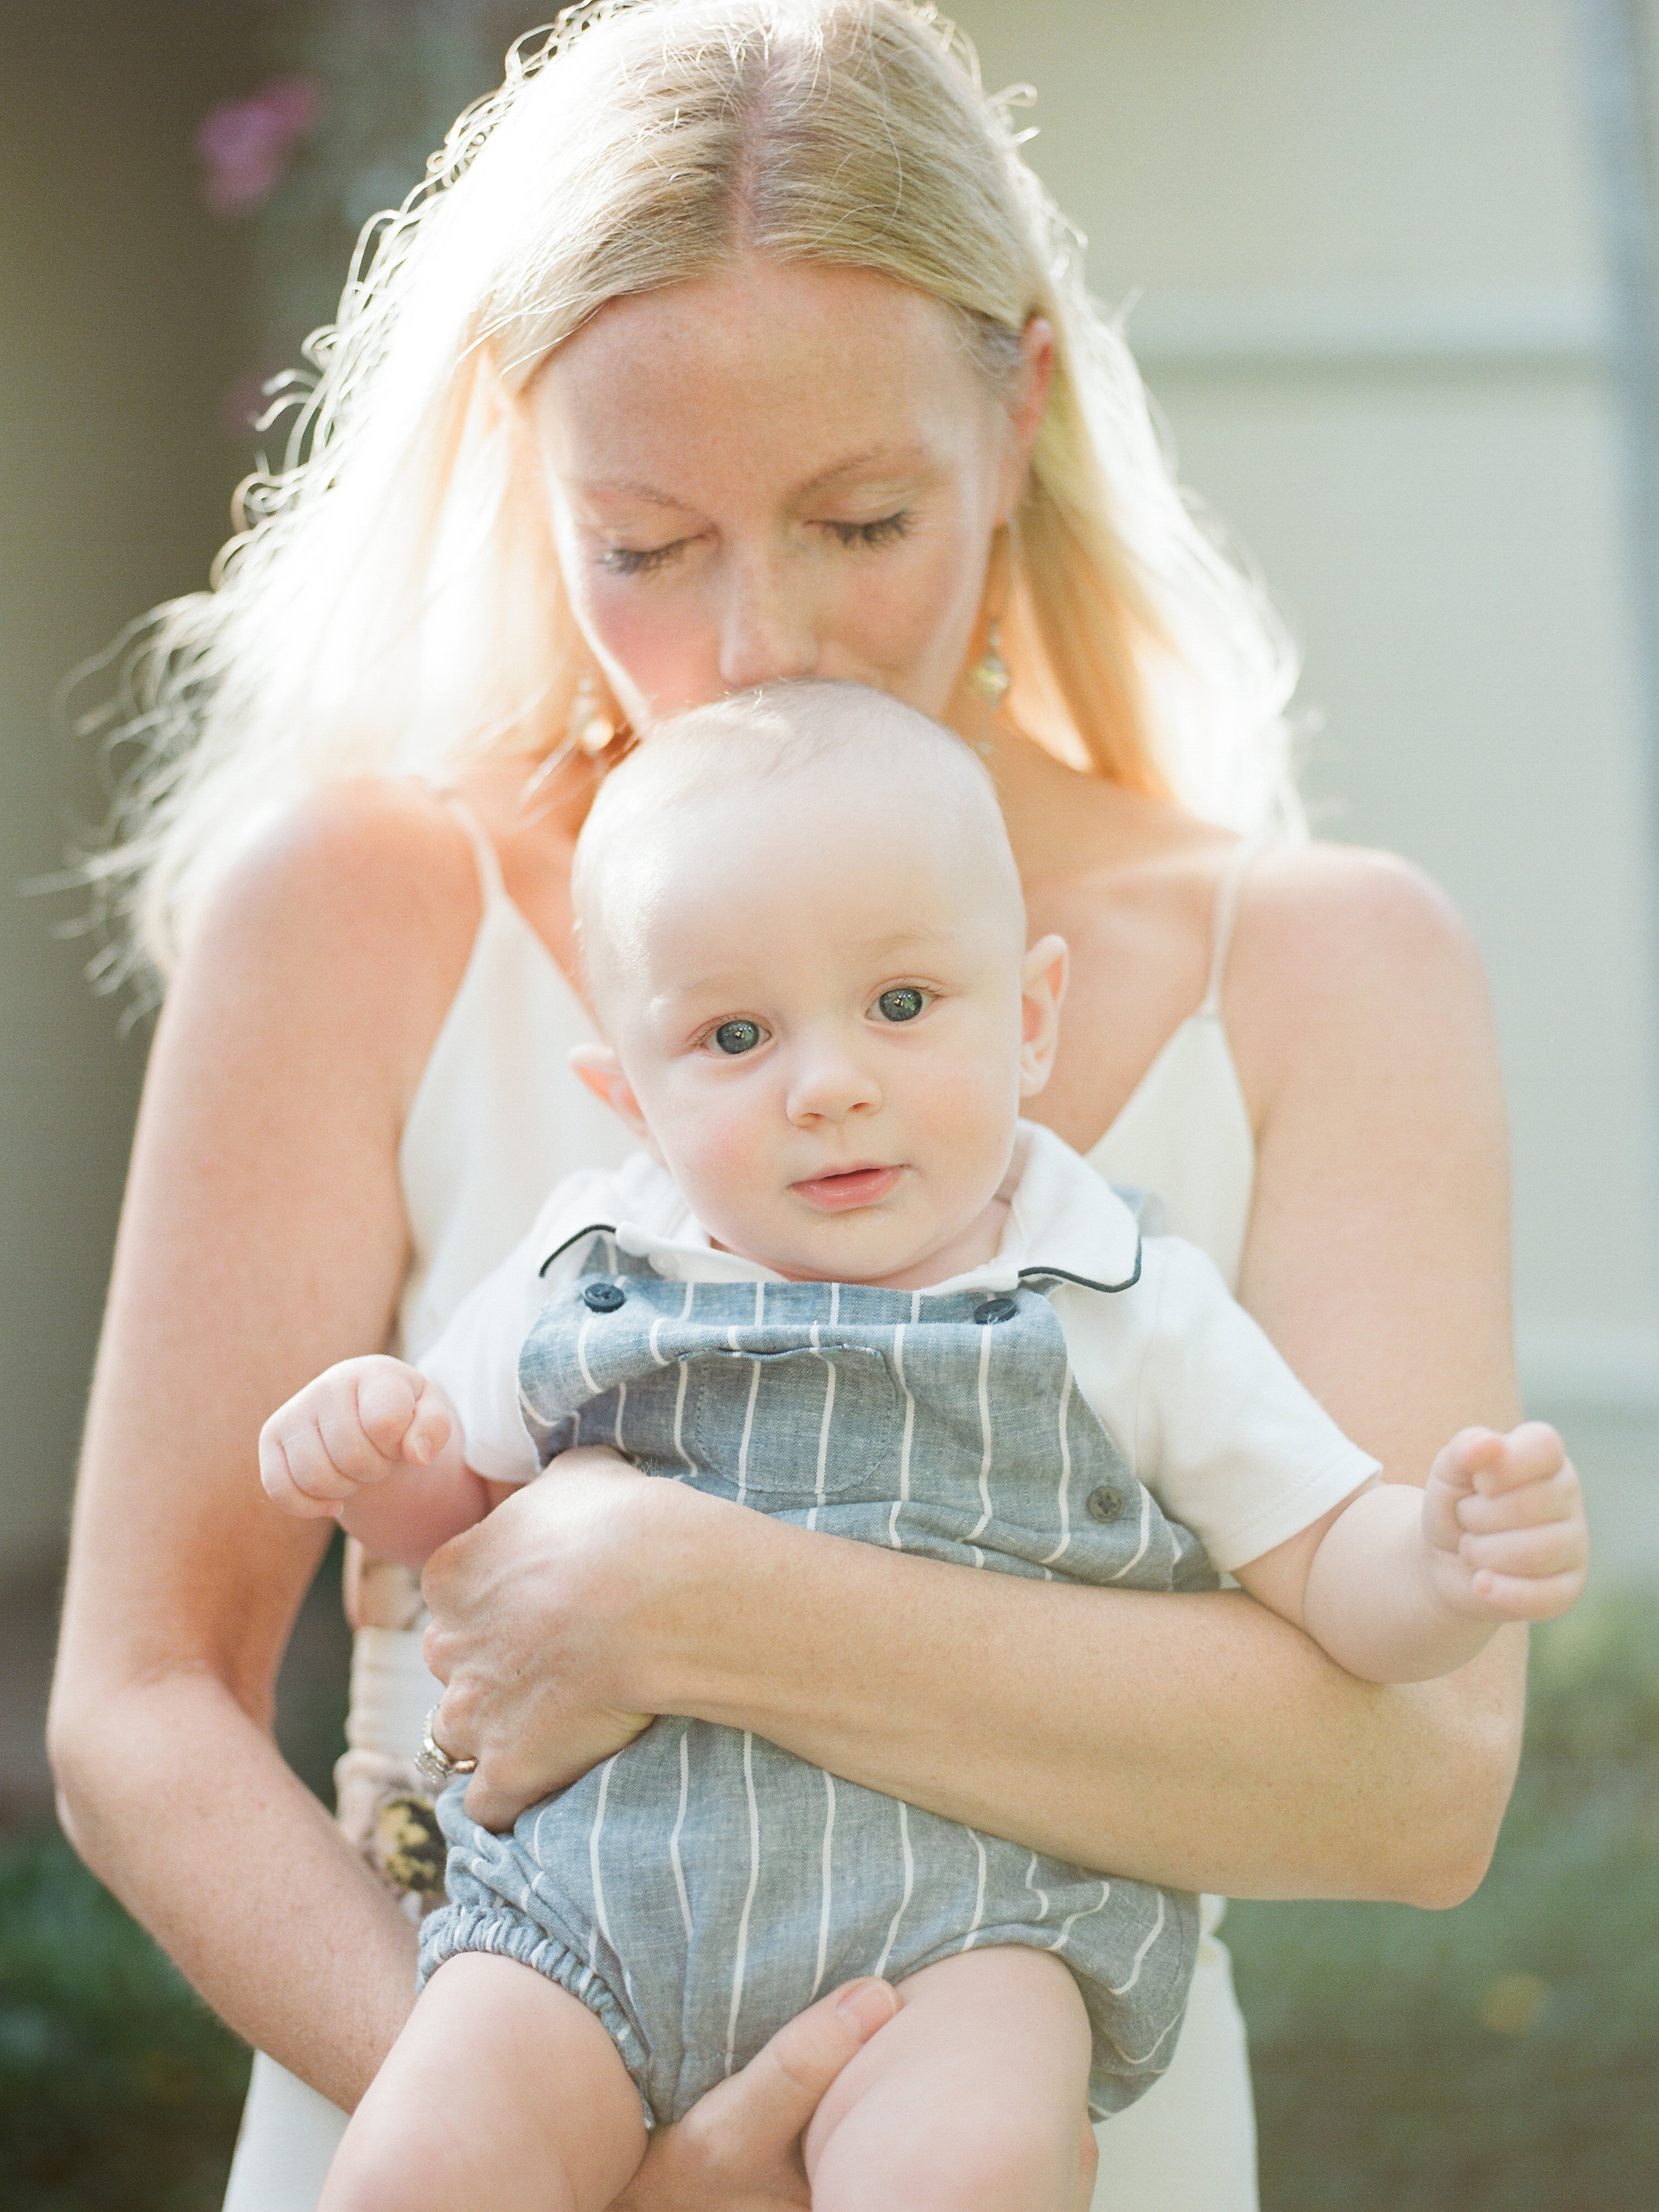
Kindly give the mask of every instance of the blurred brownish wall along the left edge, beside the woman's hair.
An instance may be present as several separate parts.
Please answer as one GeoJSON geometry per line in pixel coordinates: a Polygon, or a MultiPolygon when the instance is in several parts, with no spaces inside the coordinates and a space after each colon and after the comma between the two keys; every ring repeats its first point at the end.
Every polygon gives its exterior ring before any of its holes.
{"type": "Polygon", "coordinates": [[[0,1571],[62,1542],[144,1031],[20,896],[104,807],[53,690],[226,535],[219,427],[246,338],[246,237],[201,206],[190,137],[248,82],[257,0],[0,9],[0,1571]]]}

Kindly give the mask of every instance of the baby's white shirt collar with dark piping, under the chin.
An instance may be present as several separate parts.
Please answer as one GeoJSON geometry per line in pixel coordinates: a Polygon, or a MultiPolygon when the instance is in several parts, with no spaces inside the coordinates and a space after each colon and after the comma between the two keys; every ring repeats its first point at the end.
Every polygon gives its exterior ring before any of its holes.
{"type": "MultiPolygon", "coordinates": [[[[606,1219],[595,1206],[602,1192],[588,1188],[575,1208],[584,1217],[580,1223],[568,1230],[564,1223],[549,1225],[542,1274],[577,1237],[602,1232],[615,1237],[630,1259],[644,1259],[655,1274],[675,1283],[787,1281],[759,1261],[717,1250],[668,1170],[646,1152],[637,1152],[606,1183],[604,1194],[613,1201],[606,1219]]],[[[1135,1214],[1053,1130],[1020,1121],[1002,1197],[1009,1201],[1009,1225],[998,1252],[945,1283],[929,1283],[929,1292],[1006,1292],[1020,1285],[1020,1276],[1042,1274],[1095,1290],[1126,1290],[1137,1279],[1141,1239],[1135,1214]]]]}

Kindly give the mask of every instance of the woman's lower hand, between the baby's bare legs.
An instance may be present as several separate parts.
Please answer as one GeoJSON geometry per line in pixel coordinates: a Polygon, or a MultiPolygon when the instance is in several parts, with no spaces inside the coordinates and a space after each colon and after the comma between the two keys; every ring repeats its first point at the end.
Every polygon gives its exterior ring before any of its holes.
{"type": "Polygon", "coordinates": [[[743,2073],[717,2084],[672,2128],[655,2128],[644,2166],[611,2212],[783,2212],[810,2205],[801,2130],[841,2068],[898,2011],[887,1982],[821,1997],[743,2073]]]}

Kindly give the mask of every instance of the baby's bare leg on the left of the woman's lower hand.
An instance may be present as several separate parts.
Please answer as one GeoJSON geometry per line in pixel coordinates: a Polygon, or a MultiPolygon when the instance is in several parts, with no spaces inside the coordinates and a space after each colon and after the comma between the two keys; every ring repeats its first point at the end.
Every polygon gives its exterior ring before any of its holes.
{"type": "Polygon", "coordinates": [[[639,2093],[586,2004],[462,1951],[420,1991],[319,2212],[602,2212],[644,2154],[639,2093]]]}

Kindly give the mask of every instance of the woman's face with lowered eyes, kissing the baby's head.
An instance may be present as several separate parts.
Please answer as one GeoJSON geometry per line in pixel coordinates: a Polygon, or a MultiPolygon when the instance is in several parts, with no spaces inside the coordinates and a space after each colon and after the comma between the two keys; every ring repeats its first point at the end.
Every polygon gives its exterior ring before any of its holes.
{"type": "Polygon", "coordinates": [[[938,301],[774,261],[611,301],[568,338],[531,414],[571,604],[635,728],[783,677],[942,717],[1048,354],[1033,323],[1004,400],[938,301]]]}

